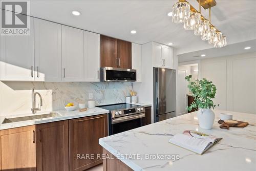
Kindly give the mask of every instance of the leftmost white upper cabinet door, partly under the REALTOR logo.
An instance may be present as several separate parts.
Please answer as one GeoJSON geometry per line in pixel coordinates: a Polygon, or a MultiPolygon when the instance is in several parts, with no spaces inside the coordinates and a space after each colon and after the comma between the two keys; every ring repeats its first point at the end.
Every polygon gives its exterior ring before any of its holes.
{"type": "Polygon", "coordinates": [[[1,36],[0,80],[34,80],[34,18],[29,36],[1,36]]]}

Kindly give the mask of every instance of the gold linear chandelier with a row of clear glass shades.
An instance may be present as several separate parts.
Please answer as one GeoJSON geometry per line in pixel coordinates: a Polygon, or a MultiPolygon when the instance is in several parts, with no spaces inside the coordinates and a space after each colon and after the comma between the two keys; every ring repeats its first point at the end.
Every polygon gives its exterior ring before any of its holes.
{"type": "Polygon", "coordinates": [[[202,40],[208,40],[208,43],[215,48],[222,48],[227,45],[227,38],[223,36],[214,25],[211,24],[210,10],[216,6],[215,0],[197,0],[199,3],[199,12],[191,6],[186,0],[179,0],[173,6],[172,20],[174,23],[184,23],[185,30],[194,30],[194,34],[201,36],[202,40]],[[209,20],[201,14],[201,6],[209,9],[209,20]]]}

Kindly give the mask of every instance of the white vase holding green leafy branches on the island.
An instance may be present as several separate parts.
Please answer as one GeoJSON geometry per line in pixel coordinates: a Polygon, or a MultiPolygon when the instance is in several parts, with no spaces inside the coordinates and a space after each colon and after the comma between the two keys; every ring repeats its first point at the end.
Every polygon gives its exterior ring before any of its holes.
{"type": "Polygon", "coordinates": [[[202,127],[202,129],[207,129],[207,130],[212,129],[212,125],[214,124],[215,114],[211,109],[199,108],[197,112],[197,118],[198,118],[199,126],[202,127]]]}

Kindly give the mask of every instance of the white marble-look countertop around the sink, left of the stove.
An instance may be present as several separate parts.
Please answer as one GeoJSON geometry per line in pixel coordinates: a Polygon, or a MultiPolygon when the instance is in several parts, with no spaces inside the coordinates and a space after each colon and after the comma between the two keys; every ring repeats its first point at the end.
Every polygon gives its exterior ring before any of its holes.
{"type": "Polygon", "coordinates": [[[60,111],[53,111],[53,112],[57,112],[58,114],[60,114],[60,116],[20,121],[20,122],[12,122],[12,123],[3,123],[3,120],[5,118],[22,117],[22,116],[30,116],[30,115],[41,115],[41,114],[45,114],[45,113],[49,113],[49,112],[37,112],[36,114],[24,114],[24,115],[16,115],[16,116],[14,116],[14,115],[13,116],[1,116],[0,130],[109,113],[108,110],[97,108],[97,107],[96,108],[87,108],[87,111],[85,111],[85,112],[79,112],[78,110],[75,110],[75,111],[60,110],[60,111]]]}

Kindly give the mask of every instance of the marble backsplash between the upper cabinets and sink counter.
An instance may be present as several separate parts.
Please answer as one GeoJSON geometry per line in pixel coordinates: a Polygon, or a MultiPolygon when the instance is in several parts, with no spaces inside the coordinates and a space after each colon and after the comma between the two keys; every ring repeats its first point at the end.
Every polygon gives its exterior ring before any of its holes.
{"type": "MultiPolygon", "coordinates": [[[[132,90],[131,82],[1,82],[0,115],[31,113],[31,89],[39,92],[43,104],[41,111],[63,110],[65,104],[86,102],[93,94],[95,105],[125,102],[132,90]]],[[[38,96],[36,103],[39,103],[38,96]]]]}

